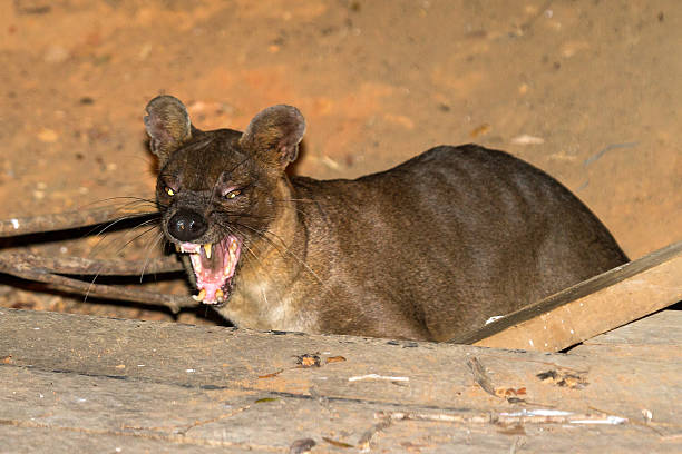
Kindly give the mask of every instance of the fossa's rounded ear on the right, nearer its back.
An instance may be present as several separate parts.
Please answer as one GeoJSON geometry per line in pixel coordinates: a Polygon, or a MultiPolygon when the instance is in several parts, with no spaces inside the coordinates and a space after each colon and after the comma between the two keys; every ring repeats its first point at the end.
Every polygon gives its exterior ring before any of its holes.
{"type": "Polygon", "coordinates": [[[240,145],[285,168],[299,155],[299,142],[305,134],[305,119],[293,106],[272,106],[249,124],[240,145]]]}

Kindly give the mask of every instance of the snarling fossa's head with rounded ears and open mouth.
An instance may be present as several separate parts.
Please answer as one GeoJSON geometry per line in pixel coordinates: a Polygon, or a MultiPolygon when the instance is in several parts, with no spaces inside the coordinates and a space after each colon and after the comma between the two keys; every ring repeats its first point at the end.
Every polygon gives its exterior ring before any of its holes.
{"type": "Polygon", "coordinates": [[[160,164],[156,197],[166,238],[189,254],[198,295],[222,304],[241,258],[267,233],[277,206],[275,187],[298,155],[305,120],[291,106],[273,106],[240,132],[196,129],[172,96],[147,105],[149,147],[160,164]]]}

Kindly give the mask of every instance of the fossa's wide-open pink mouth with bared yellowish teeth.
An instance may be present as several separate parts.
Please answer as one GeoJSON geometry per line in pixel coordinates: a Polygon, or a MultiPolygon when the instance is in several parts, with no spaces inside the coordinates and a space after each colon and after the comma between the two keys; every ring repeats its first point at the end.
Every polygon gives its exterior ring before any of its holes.
{"type": "Polygon", "coordinates": [[[179,251],[189,254],[196,276],[198,294],[193,296],[195,300],[205,304],[221,304],[230,298],[232,278],[241,250],[240,240],[232,235],[214,244],[179,244],[179,251]]]}

